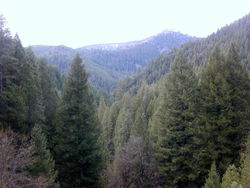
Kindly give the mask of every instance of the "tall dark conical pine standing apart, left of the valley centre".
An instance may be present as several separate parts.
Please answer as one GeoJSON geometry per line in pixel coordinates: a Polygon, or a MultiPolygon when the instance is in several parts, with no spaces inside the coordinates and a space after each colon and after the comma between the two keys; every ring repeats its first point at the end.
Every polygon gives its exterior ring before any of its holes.
{"type": "Polygon", "coordinates": [[[73,60],[56,113],[53,150],[62,187],[97,187],[102,168],[97,114],[79,55],[73,60]]]}

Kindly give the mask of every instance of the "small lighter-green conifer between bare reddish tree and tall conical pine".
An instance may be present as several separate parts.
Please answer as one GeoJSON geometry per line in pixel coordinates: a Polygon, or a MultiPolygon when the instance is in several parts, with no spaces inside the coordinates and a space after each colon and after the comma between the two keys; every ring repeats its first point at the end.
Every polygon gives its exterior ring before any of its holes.
{"type": "Polygon", "coordinates": [[[55,161],[47,148],[46,136],[39,125],[36,125],[31,132],[31,145],[33,149],[32,157],[35,162],[30,167],[30,173],[36,177],[45,177],[50,187],[57,187],[58,185],[55,183],[57,176],[55,161]]]}

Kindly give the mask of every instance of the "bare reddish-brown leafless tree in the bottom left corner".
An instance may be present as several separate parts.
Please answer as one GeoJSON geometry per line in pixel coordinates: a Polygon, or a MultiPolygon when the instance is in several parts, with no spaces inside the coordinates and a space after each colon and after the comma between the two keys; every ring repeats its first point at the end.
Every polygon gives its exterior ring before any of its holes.
{"type": "Polygon", "coordinates": [[[0,131],[0,187],[1,188],[45,188],[48,180],[31,177],[28,168],[35,161],[32,147],[25,136],[10,129],[0,131]]]}

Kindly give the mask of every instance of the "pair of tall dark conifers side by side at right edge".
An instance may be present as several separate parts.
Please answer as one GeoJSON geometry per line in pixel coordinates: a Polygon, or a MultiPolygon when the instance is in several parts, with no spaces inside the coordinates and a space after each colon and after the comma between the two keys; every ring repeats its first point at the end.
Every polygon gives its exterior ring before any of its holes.
{"type": "Polygon", "coordinates": [[[239,164],[240,144],[249,127],[249,83],[234,46],[226,58],[215,48],[201,79],[204,168],[215,160],[222,175],[229,164],[239,164]]]}

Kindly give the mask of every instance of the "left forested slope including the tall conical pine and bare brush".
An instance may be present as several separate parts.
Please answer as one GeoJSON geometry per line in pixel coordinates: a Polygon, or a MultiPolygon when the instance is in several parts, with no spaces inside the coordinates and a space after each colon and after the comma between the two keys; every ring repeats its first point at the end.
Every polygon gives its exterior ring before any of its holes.
{"type": "Polygon", "coordinates": [[[1,188],[98,186],[100,124],[79,56],[63,82],[0,16],[1,188]]]}

